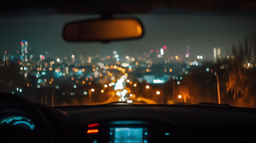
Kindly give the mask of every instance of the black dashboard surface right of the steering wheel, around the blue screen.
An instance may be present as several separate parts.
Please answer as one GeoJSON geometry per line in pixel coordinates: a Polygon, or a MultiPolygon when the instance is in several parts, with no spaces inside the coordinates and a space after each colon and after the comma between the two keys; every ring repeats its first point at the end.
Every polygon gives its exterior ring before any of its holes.
{"type": "Polygon", "coordinates": [[[117,127],[147,129],[146,133],[143,131],[148,136],[143,143],[256,141],[256,109],[252,108],[130,104],[36,106],[49,122],[55,142],[117,143],[110,141],[110,128],[117,127]],[[117,124],[113,124],[115,122],[117,124]],[[95,123],[96,127],[88,127],[95,123]],[[88,134],[88,130],[98,131],[88,134]]]}

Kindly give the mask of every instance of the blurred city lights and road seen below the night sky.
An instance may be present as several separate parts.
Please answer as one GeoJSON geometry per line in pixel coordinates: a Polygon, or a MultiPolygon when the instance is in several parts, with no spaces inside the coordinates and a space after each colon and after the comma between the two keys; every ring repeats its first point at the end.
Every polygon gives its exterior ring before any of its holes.
{"type": "Polygon", "coordinates": [[[204,55],[167,55],[168,46],[142,55],[34,55],[21,40],[16,53],[4,51],[0,64],[1,91],[52,106],[111,102],[172,104],[229,103],[255,107],[255,42],[251,36],[227,54],[212,49],[204,55]]]}

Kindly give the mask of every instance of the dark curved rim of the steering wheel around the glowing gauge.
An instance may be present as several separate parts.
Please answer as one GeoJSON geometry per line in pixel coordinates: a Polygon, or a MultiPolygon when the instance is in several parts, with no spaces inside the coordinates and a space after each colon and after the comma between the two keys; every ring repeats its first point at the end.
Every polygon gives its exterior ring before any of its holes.
{"type": "MultiPolygon", "coordinates": [[[[43,113],[33,103],[17,95],[0,93],[0,117],[4,116],[4,114],[20,115],[19,113],[28,115],[33,119],[33,120],[31,119],[31,121],[35,123],[35,130],[33,132],[33,135],[36,135],[37,141],[32,141],[32,142],[40,142],[40,143],[54,142],[52,130],[50,128],[50,125],[47,119],[45,118],[43,113]]],[[[15,132],[15,130],[18,130],[18,128],[14,126],[13,127],[5,126],[4,130],[6,129],[9,129],[10,132],[12,131],[15,132]]],[[[2,132],[1,128],[0,128],[0,132],[2,132]]],[[[16,135],[20,136],[20,134],[25,135],[26,131],[22,129],[22,132],[20,132],[19,135],[18,134],[16,135]]],[[[5,137],[7,136],[7,134],[4,134],[3,132],[1,136],[5,137]]],[[[13,137],[15,137],[15,134],[13,137]]]]}

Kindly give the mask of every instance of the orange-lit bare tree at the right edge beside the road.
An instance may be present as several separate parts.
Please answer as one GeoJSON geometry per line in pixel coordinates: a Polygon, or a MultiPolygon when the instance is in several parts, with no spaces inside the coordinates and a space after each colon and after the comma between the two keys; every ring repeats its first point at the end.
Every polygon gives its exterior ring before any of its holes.
{"type": "Polygon", "coordinates": [[[238,46],[232,46],[229,59],[225,59],[227,72],[223,79],[226,81],[227,95],[234,99],[234,106],[255,106],[256,88],[256,35],[249,40],[245,37],[238,46]],[[253,51],[253,52],[252,52],[253,51]]]}

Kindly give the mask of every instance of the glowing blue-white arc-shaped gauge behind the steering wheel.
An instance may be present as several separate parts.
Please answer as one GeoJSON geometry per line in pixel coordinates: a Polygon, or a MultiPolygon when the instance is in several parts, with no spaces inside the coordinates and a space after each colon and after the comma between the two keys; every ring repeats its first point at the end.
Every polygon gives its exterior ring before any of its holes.
{"type": "Polygon", "coordinates": [[[30,119],[21,116],[5,117],[0,119],[0,124],[2,125],[17,125],[22,128],[29,130],[34,130],[35,125],[30,119]]]}

